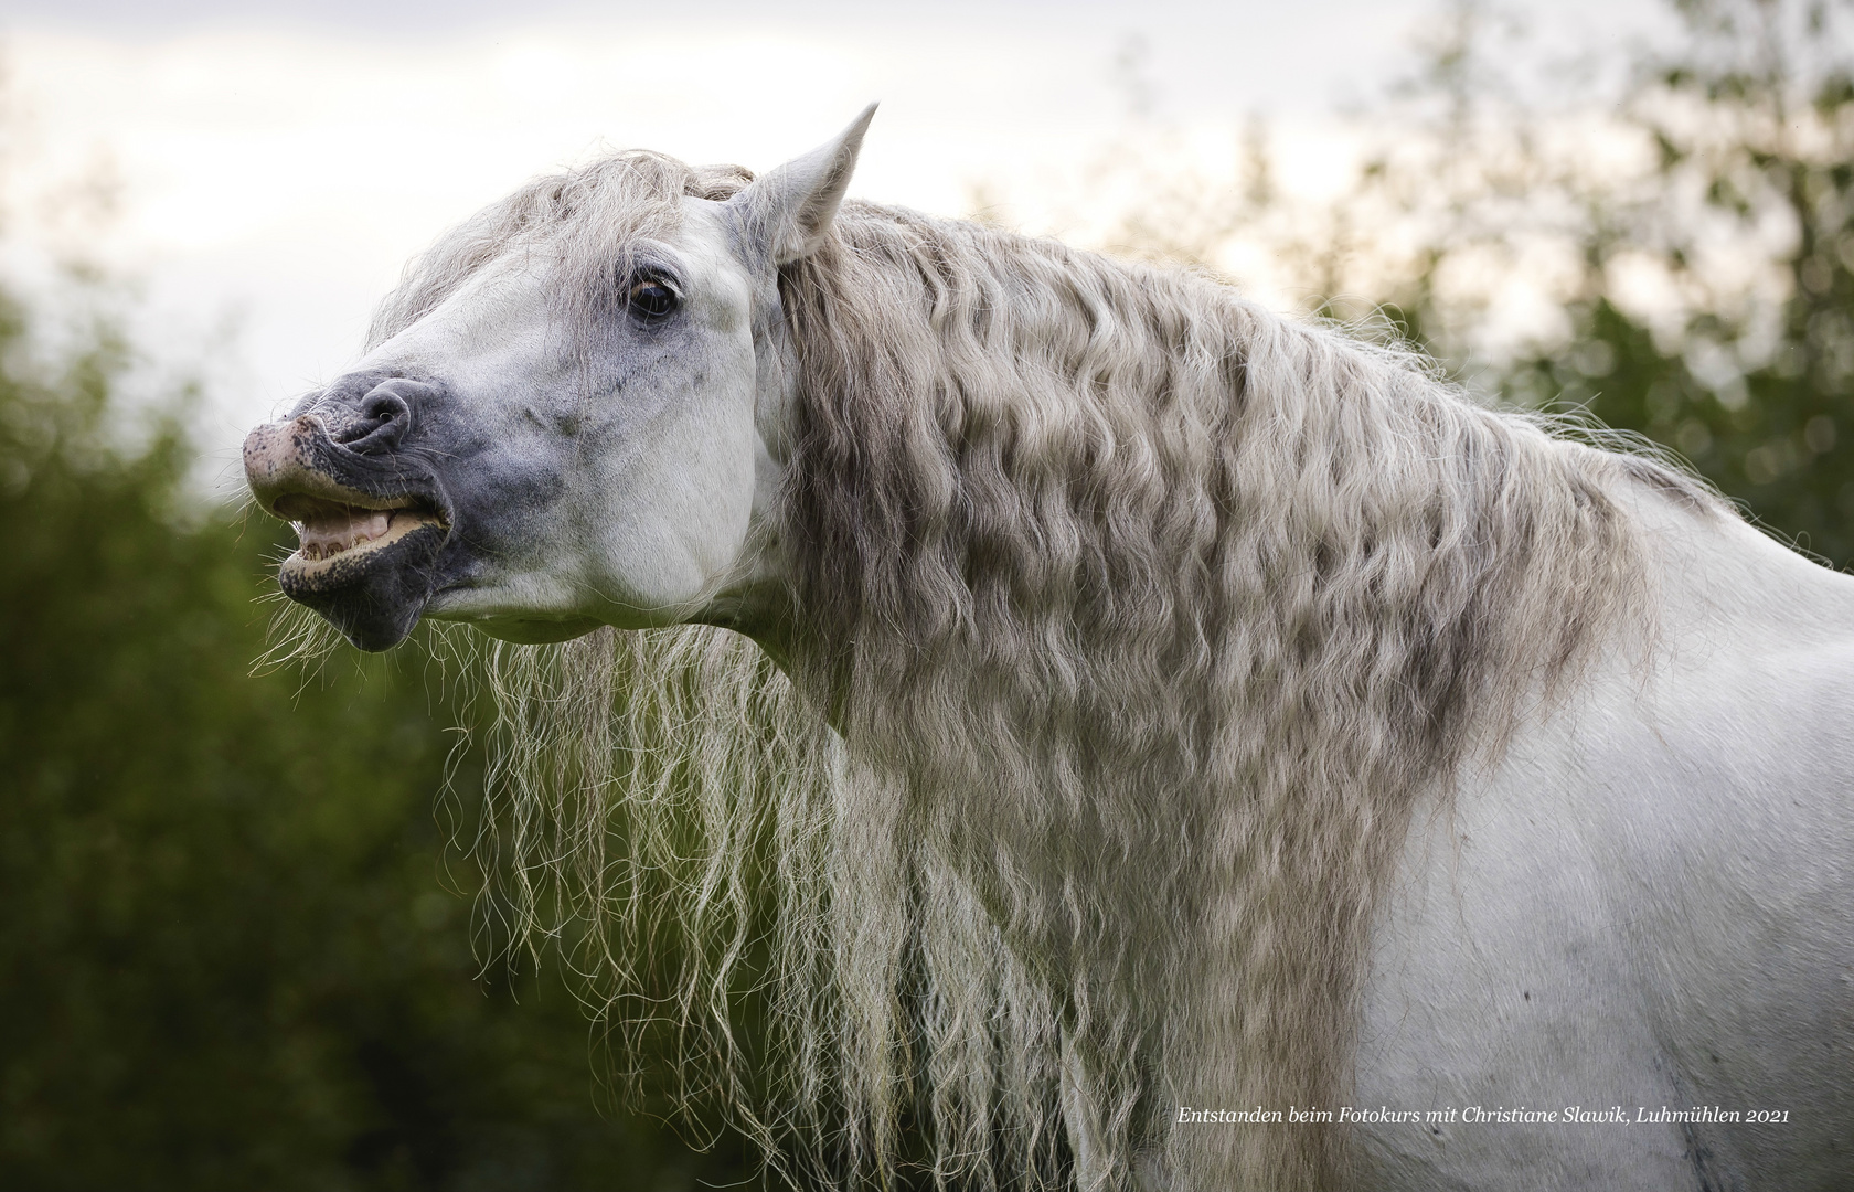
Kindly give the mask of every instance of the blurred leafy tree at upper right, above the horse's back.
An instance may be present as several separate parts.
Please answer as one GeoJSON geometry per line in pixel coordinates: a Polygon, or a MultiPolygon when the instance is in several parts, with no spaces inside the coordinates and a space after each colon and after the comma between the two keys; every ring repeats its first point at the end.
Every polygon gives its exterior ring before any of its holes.
{"type": "Polygon", "coordinates": [[[1350,197],[1416,217],[1415,250],[1379,282],[1379,310],[1400,337],[1479,373],[1509,402],[1583,412],[1674,450],[1776,536],[1847,567],[1848,6],[1674,9],[1680,44],[1633,63],[1606,120],[1517,100],[1487,54],[1483,7],[1463,4],[1437,22],[1411,87],[1429,106],[1428,135],[1416,152],[1372,158],[1350,197]],[[1500,282],[1476,289],[1459,274],[1478,265],[1509,280],[1541,241],[1572,261],[1554,291],[1561,330],[1476,363],[1500,282]]]}

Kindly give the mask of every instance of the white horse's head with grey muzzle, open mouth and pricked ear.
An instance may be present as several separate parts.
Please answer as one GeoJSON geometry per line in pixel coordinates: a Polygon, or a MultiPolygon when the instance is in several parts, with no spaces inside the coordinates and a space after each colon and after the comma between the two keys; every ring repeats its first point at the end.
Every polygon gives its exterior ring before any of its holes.
{"type": "Polygon", "coordinates": [[[423,615],[558,641],[764,612],[777,271],[821,243],[873,111],[716,197],[640,197],[669,163],[621,156],[454,232],[352,371],[245,439],[252,495],[300,534],[284,591],[367,651],[423,615]]]}

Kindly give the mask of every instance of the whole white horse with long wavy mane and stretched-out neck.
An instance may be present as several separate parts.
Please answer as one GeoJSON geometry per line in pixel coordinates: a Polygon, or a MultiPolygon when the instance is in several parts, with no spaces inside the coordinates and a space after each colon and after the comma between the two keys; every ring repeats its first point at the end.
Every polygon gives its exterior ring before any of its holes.
{"type": "Polygon", "coordinates": [[[647,630],[499,647],[610,975],[654,869],[725,1012],[779,886],[756,1122],[851,1179],[912,1112],[970,1186],[1854,1186],[1854,580],[1216,282],[844,204],[868,120],[525,187],[245,445],[362,649],[647,630]]]}

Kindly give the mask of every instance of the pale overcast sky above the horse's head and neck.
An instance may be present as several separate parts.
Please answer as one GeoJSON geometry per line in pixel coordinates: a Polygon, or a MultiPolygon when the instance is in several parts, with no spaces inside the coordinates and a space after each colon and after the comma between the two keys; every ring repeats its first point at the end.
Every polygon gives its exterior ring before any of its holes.
{"type": "MultiPolygon", "coordinates": [[[[1528,28],[1515,69],[1665,22],[1656,0],[1509,7],[1528,28]]],[[[352,360],[410,254],[601,146],[766,169],[881,100],[855,193],[959,215],[975,185],[1072,176],[1133,109],[1200,145],[1263,115],[1296,185],[1318,187],[1344,167],[1340,113],[1411,69],[1439,11],[4,0],[9,228],[82,239],[145,284],[156,350],[210,365],[210,445],[230,478],[245,426],[352,360]],[[119,193],[104,234],[72,215],[87,176],[119,193]]]]}

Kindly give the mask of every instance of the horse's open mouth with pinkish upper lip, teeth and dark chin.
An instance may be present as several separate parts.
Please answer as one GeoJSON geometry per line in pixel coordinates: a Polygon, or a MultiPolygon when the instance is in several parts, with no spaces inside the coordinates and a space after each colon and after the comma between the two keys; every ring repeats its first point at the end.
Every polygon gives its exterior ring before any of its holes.
{"type": "Polygon", "coordinates": [[[376,467],[343,450],[315,415],[252,430],[245,476],[267,512],[297,525],[276,577],[284,595],[363,651],[399,645],[432,599],[451,538],[436,484],[408,478],[402,460],[376,467]]]}

